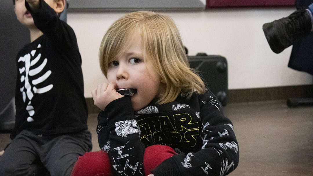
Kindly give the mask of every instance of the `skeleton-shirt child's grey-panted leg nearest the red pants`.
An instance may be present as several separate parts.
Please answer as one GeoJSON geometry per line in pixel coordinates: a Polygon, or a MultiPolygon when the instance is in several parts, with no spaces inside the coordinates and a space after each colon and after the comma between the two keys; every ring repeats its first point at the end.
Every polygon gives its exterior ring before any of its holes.
{"type": "Polygon", "coordinates": [[[51,176],[69,176],[79,156],[92,148],[88,130],[60,136],[43,136],[39,157],[51,176]]]}

